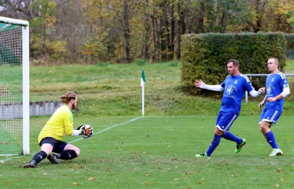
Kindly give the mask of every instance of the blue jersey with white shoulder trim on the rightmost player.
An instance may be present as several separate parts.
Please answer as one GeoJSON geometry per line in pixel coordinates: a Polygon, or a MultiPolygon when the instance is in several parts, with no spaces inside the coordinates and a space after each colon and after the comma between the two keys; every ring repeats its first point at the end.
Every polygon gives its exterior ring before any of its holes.
{"type": "MultiPolygon", "coordinates": [[[[275,97],[283,92],[283,89],[289,88],[287,77],[281,71],[276,74],[267,76],[266,82],[266,100],[269,97],[275,97]]],[[[272,106],[277,110],[283,111],[284,98],[278,99],[274,102],[266,101],[266,105],[272,106]]]]}

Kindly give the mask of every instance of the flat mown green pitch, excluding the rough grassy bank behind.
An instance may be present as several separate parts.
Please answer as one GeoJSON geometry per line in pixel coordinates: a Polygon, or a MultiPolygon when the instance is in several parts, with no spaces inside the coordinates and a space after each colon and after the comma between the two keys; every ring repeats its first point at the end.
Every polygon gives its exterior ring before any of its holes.
{"type": "MultiPolygon", "coordinates": [[[[96,132],[90,139],[65,137],[81,149],[80,157],[60,165],[44,160],[36,169],[21,167],[32,156],[1,157],[1,188],[294,187],[292,117],[280,118],[272,129],[283,156],[268,156],[271,148],[259,131],[259,117],[240,116],[231,131],[247,144],[235,154],[235,143],[222,139],[211,160],[195,154],[205,152],[211,142],[215,117],[135,118],[75,118],[76,126],[86,122],[96,132]]],[[[47,119],[31,119],[32,154],[40,149],[37,137],[47,119]]]]}

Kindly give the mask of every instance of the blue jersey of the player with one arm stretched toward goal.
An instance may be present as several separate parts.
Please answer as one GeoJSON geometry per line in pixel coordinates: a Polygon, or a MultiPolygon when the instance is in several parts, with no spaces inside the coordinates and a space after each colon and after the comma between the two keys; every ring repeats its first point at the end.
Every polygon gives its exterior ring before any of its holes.
{"type": "Polygon", "coordinates": [[[221,83],[221,87],[224,88],[224,92],[220,111],[232,112],[234,114],[240,113],[245,91],[250,92],[254,90],[249,78],[242,73],[236,76],[228,75],[221,83]]]}

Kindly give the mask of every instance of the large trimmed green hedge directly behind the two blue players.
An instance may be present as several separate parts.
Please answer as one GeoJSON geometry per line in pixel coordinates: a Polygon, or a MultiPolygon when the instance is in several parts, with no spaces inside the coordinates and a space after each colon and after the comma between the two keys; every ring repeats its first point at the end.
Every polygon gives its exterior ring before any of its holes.
{"type": "MultiPolygon", "coordinates": [[[[240,72],[269,73],[270,57],[279,60],[279,70],[286,64],[286,38],[283,33],[206,33],[182,35],[181,79],[183,89],[195,90],[195,80],[219,85],[228,75],[227,61],[237,59],[240,72]]],[[[255,88],[265,85],[265,77],[250,77],[255,88]]],[[[206,90],[202,90],[206,91],[206,90]]]]}

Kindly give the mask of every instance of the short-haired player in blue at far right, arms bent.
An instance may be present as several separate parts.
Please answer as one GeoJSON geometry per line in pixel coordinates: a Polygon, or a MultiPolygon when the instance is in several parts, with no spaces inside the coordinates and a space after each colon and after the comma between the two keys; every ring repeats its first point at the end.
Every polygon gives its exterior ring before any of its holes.
{"type": "Polygon", "coordinates": [[[269,156],[283,155],[282,150],[275,142],[270,126],[275,124],[281,116],[283,112],[284,98],[290,94],[288,80],[285,74],[278,70],[278,66],[278,59],[270,58],[268,60],[268,69],[271,73],[267,76],[266,96],[263,101],[259,103],[259,108],[266,104],[261,113],[259,124],[260,131],[272,147],[272,152],[269,156]]]}

